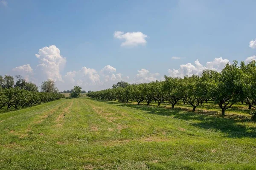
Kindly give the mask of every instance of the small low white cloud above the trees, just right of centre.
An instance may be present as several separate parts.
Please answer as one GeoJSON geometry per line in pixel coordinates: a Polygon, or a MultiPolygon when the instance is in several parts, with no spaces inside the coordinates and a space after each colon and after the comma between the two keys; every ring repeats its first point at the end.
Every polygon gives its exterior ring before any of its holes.
{"type": "Polygon", "coordinates": [[[159,73],[150,73],[146,69],[141,69],[137,71],[138,74],[136,74],[136,77],[134,78],[134,83],[143,83],[143,82],[151,82],[157,80],[157,77],[159,76],[159,73]]]}

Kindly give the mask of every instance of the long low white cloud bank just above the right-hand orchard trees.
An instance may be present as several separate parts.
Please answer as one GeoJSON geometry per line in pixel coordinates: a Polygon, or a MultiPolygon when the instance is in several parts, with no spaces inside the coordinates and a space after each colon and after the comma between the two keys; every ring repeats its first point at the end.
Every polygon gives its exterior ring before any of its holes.
{"type": "Polygon", "coordinates": [[[229,62],[228,59],[215,58],[211,62],[207,62],[206,66],[203,66],[198,59],[195,61],[195,64],[187,63],[180,65],[180,68],[169,69],[168,73],[171,77],[184,77],[184,76],[192,76],[193,74],[200,75],[203,70],[210,69],[215,71],[221,71],[225,64],[229,62]]]}

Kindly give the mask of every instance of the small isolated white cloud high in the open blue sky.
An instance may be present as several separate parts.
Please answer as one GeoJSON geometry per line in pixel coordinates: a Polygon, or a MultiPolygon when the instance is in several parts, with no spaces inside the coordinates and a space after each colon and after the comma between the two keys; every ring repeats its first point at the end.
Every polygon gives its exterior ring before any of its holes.
{"type": "Polygon", "coordinates": [[[143,34],[142,32],[127,32],[124,34],[122,31],[115,31],[114,37],[117,39],[124,39],[125,42],[122,42],[121,46],[137,46],[137,45],[145,45],[147,41],[145,38],[148,36],[143,34]]]}

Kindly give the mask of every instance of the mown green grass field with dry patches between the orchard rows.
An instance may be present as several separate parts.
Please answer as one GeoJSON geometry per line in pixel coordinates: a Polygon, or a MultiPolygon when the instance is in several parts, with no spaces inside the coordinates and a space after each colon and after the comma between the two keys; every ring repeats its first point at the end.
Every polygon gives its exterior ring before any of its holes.
{"type": "Polygon", "coordinates": [[[181,103],[171,110],[80,98],[0,113],[0,169],[256,169],[246,106],[222,118],[210,105],[192,113],[181,103]]]}

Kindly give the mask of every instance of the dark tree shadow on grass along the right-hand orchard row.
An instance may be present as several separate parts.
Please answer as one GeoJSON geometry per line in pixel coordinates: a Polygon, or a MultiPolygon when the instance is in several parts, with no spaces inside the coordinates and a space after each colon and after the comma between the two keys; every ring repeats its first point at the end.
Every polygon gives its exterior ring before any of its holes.
{"type": "Polygon", "coordinates": [[[216,112],[213,111],[212,114],[205,114],[206,112],[200,113],[192,113],[186,112],[184,109],[176,108],[176,109],[168,109],[168,108],[157,108],[152,106],[145,105],[134,105],[134,104],[120,104],[117,102],[106,102],[109,105],[119,105],[122,107],[140,109],[149,114],[157,114],[161,116],[173,116],[175,119],[183,119],[183,120],[195,120],[191,125],[204,128],[204,129],[215,129],[221,131],[230,138],[256,138],[256,128],[255,127],[247,127],[246,125],[242,125],[242,123],[250,122],[250,119],[246,118],[234,118],[234,117],[220,117],[217,116],[216,112]],[[241,124],[239,124],[241,123],[241,124]]]}

